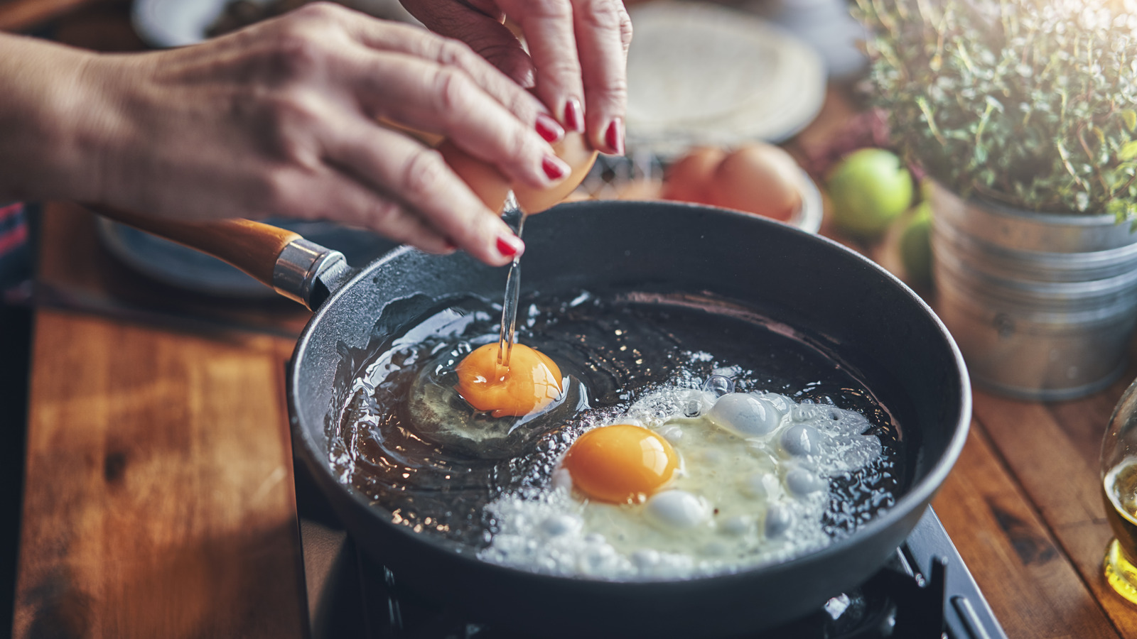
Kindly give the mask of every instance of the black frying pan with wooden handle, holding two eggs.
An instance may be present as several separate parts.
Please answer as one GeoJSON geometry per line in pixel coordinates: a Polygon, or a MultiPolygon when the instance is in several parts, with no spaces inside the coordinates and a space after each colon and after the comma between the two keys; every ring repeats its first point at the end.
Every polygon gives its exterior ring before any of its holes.
{"type": "Polygon", "coordinates": [[[216,225],[116,217],[208,249],[315,310],[288,371],[294,455],[356,542],[404,587],[531,634],[731,637],[803,616],[885,563],[915,525],[966,435],[970,385],[954,341],[915,293],[863,256],[791,226],[723,209],[673,202],[559,205],[526,223],[523,291],[709,294],[811,335],[835,365],[895,412],[904,439],[904,490],[891,508],[819,551],[735,574],[612,582],[489,564],[393,524],[389,512],[337,481],[325,424],[335,418],[337,392],[346,381],[341,354],[414,323],[423,309],[408,300],[423,293],[499,297],[505,269],[465,254],[430,256],[400,248],[356,271],[334,251],[255,223],[229,222],[218,240],[216,225]]]}

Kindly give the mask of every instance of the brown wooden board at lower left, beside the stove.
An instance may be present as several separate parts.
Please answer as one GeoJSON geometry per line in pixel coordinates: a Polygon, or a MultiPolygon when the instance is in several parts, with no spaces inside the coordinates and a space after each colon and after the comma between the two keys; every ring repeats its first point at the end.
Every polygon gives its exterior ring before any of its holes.
{"type": "Polygon", "coordinates": [[[41,310],[15,636],[304,634],[283,362],[41,310]]]}

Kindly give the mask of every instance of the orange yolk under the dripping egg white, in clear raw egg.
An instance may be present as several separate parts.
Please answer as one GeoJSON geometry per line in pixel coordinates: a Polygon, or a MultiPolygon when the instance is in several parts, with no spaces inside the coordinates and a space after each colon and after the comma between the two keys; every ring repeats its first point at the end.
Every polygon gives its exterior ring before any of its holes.
{"type": "Polygon", "coordinates": [[[536,413],[561,397],[561,368],[543,352],[515,343],[509,365],[498,364],[497,342],[479,347],[457,367],[458,395],[495,417],[536,413]]]}

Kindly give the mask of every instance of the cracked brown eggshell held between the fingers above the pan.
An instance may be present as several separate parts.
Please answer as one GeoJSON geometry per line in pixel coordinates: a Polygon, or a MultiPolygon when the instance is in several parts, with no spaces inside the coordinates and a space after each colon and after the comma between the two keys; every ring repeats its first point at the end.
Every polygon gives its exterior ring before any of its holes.
{"type": "MultiPolygon", "coordinates": [[[[450,168],[470,185],[490,210],[501,213],[511,184],[497,167],[471,156],[449,140],[439,144],[438,150],[450,168]]],[[[548,189],[534,189],[521,184],[512,186],[517,205],[530,215],[541,213],[565,199],[580,185],[596,161],[596,151],[580,133],[566,133],[564,140],[553,144],[553,150],[572,169],[568,177],[548,189]]]]}

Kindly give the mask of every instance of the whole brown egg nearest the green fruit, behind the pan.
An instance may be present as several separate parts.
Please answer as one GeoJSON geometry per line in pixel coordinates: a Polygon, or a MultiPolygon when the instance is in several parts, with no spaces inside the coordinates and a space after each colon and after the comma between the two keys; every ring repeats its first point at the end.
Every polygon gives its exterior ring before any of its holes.
{"type": "Polygon", "coordinates": [[[772,144],[740,147],[715,169],[707,204],[788,221],[802,206],[802,169],[772,144]]]}

